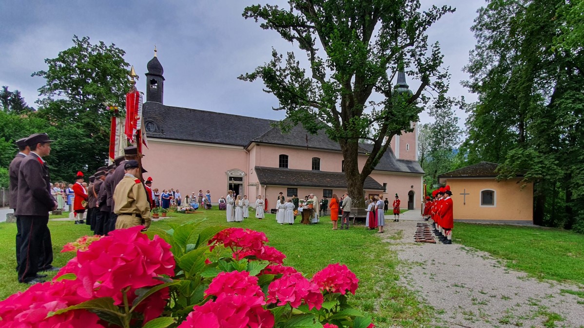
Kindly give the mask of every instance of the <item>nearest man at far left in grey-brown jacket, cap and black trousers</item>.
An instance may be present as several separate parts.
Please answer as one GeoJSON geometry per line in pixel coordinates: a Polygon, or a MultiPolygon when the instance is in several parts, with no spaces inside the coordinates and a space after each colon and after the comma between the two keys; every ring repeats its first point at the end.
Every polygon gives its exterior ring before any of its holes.
{"type": "MultiPolygon", "coordinates": [[[[51,195],[48,167],[43,157],[51,153],[51,140],[46,133],[35,133],[26,140],[30,154],[20,161],[15,215],[22,228],[22,245],[18,264],[18,281],[35,284],[43,282],[40,270],[58,270],[43,267],[53,260],[53,248],[48,230],[48,212],[57,209],[57,200],[51,195]],[[48,242],[47,242],[48,236],[48,242]]],[[[50,265],[50,264],[49,264],[50,265]]]]}

